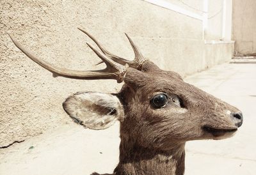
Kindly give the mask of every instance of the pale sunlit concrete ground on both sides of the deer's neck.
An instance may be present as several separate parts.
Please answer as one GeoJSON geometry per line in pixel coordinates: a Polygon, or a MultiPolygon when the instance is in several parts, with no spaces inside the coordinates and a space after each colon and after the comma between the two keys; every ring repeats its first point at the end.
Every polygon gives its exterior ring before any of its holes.
{"type": "MultiPolygon", "coordinates": [[[[186,82],[243,111],[234,137],[186,144],[186,175],[256,174],[256,64],[224,64],[196,73],[186,82]]],[[[0,149],[0,174],[111,173],[118,163],[119,124],[87,130],[72,124],[0,149]]]]}

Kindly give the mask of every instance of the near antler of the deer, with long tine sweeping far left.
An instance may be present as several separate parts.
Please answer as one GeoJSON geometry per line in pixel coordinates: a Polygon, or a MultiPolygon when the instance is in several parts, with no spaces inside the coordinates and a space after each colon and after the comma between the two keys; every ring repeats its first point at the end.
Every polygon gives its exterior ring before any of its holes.
{"type": "MultiPolygon", "coordinates": [[[[107,68],[104,70],[77,71],[77,70],[68,70],[65,68],[58,68],[36,57],[24,46],[22,46],[12,34],[9,34],[9,36],[12,39],[15,46],[18,47],[24,54],[26,54],[26,56],[32,59],[32,61],[35,61],[35,63],[42,66],[43,68],[49,70],[52,73],[56,73],[62,77],[68,77],[71,79],[116,79],[117,82],[122,82],[123,77],[127,71],[127,66],[122,66],[122,65],[118,65],[118,63],[113,63],[113,61],[111,61],[111,59],[109,59],[108,57],[102,58],[102,54],[99,54],[99,52],[95,52],[95,53],[98,56],[100,56],[100,58],[107,65],[107,68]]],[[[95,49],[93,51],[95,51],[95,49]]]]}

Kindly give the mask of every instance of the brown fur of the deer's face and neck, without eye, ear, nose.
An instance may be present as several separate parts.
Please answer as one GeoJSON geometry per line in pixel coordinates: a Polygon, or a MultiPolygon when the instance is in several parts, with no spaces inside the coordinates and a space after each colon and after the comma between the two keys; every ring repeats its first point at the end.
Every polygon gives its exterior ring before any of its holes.
{"type": "Polygon", "coordinates": [[[130,68],[118,93],[125,118],[120,128],[120,162],[115,174],[184,174],[184,145],[198,139],[221,139],[204,126],[236,128],[226,110],[238,112],[220,99],[184,82],[177,73],[157,68],[150,61],[140,71],[130,68]],[[150,66],[152,68],[150,68],[150,66]],[[156,92],[178,95],[185,113],[173,107],[153,109],[156,92]]]}

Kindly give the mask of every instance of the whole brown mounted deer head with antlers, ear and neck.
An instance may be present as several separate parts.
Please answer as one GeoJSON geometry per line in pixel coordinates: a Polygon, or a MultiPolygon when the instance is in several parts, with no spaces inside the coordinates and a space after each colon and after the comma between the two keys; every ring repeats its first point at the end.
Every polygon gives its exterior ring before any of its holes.
{"type": "Polygon", "coordinates": [[[68,116],[84,128],[103,130],[120,122],[119,162],[113,174],[182,175],[187,141],[226,139],[242,125],[239,109],[184,82],[179,73],[161,70],[141,54],[128,34],[132,61],[112,54],[87,31],[79,30],[99,47],[87,43],[100,63],[105,63],[103,70],[76,71],[51,65],[9,35],[26,56],[55,75],[124,82],[118,93],[85,91],[63,102],[68,116]]]}

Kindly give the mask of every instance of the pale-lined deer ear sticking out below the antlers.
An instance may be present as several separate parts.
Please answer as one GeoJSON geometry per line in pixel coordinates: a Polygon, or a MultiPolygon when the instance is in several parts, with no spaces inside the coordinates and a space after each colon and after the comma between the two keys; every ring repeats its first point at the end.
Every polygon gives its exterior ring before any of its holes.
{"type": "Polygon", "coordinates": [[[107,93],[76,93],[63,102],[68,115],[80,125],[93,130],[102,130],[124,119],[120,100],[107,93]]]}

